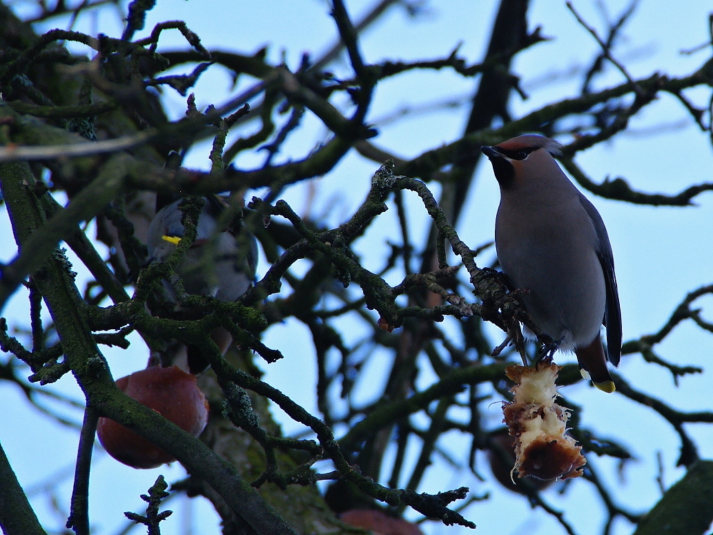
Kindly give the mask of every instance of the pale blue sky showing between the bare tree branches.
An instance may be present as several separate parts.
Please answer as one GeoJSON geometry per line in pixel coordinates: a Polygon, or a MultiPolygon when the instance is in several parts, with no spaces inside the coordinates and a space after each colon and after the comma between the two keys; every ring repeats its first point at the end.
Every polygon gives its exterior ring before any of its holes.
{"type": "MultiPolygon", "coordinates": [[[[364,12],[371,2],[348,1],[347,6],[355,18],[364,12]]],[[[367,61],[384,58],[422,59],[446,56],[461,43],[460,53],[470,62],[483,56],[489,30],[496,9],[496,1],[469,0],[433,1],[429,9],[416,19],[409,19],[400,9],[391,9],[379,24],[376,24],[361,41],[367,61]]],[[[591,26],[603,31],[605,24],[595,2],[575,1],[578,9],[591,26]]],[[[613,18],[625,9],[627,2],[605,1],[613,18]]],[[[625,39],[615,49],[616,57],[625,63],[634,77],[650,76],[661,71],[671,76],[690,73],[709,57],[709,49],[697,54],[681,54],[682,49],[692,49],[709,39],[707,17],[711,4],[703,0],[686,2],[642,2],[637,13],[625,30],[625,39]]],[[[513,98],[511,111],[514,116],[527,113],[546,103],[575,96],[578,92],[578,66],[588,65],[597,52],[593,38],[578,24],[572,14],[559,0],[533,0],[530,9],[530,29],[543,26],[542,33],[552,40],[518,56],[513,71],[520,76],[522,86],[529,98],[520,101],[513,98]],[[543,76],[549,75],[549,76],[543,76]]],[[[332,44],[336,36],[332,19],[328,16],[327,3],[316,0],[262,2],[228,1],[158,1],[147,22],[150,28],[158,21],[183,19],[188,22],[207,48],[233,49],[251,53],[260,46],[270,44],[269,57],[277,60],[284,55],[288,66],[296,68],[304,51],[319,54],[332,44]],[[199,7],[200,6],[200,7],[199,7]],[[279,10],[280,16],[275,16],[279,10]],[[214,14],[220,14],[215,16],[214,14]]],[[[63,21],[52,21],[52,26],[62,27],[63,21]]],[[[98,31],[118,36],[120,27],[116,14],[110,10],[88,17],[77,29],[96,34],[98,31]]],[[[162,46],[183,46],[178,31],[168,32],[162,46]]],[[[342,63],[337,68],[348,72],[342,63]]],[[[600,78],[599,86],[613,86],[624,78],[615,68],[607,66],[606,76],[600,78]]],[[[249,85],[244,81],[233,93],[230,80],[218,69],[204,76],[195,88],[199,106],[219,104],[249,85]]],[[[369,117],[377,123],[379,137],[374,143],[393,151],[397,156],[412,157],[424,150],[448,143],[463,129],[463,108],[443,108],[436,113],[413,114],[404,121],[380,124],[380,119],[394,109],[405,106],[429,105],[453,95],[467,96],[472,93],[472,80],[460,78],[448,71],[438,73],[411,73],[408,76],[387,81],[379,86],[376,100],[369,117]]],[[[707,105],[707,92],[701,90],[687,93],[699,106],[707,105]]],[[[167,95],[175,117],[185,110],[185,98],[176,93],[167,95]]],[[[317,121],[307,119],[307,131],[291,140],[286,152],[295,157],[304,155],[324,139],[324,129],[317,121]]],[[[567,143],[567,138],[560,141],[567,143]]],[[[262,158],[262,157],[260,157],[262,158]]],[[[237,165],[249,167],[262,160],[247,156],[237,165]]],[[[713,158],[709,138],[702,134],[682,106],[672,96],[663,95],[632,121],[630,131],[610,142],[578,155],[576,160],[590,178],[600,182],[607,177],[625,177],[635,189],[647,192],[677,193],[694,183],[713,181],[713,158]]],[[[487,162],[483,162],[486,164],[487,162]]],[[[207,146],[204,144],[190,153],[187,165],[207,168],[207,146]]],[[[369,180],[378,164],[365,161],[354,154],[347,156],[334,173],[325,178],[304,183],[287,190],[284,198],[300,213],[308,209],[317,213],[329,224],[342,223],[358,206],[369,188],[369,180]],[[308,200],[309,199],[309,200],[308,200]]],[[[467,200],[466,213],[458,225],[463,240],[476,248],[493,239],[493,225],[498,205],[498,188],[489,165],[477,170],[476,183],[467,200]]],[[[432,185],[438,190],[436,185],[432,185]]],[[[258,192],[260,193],[260,192],[258,192]]],[[[617,201],[588,197],[602,214],[612,241],[620,286],[622,317],[625,340],[657,331],[667,320],[674,307],[687,292],[711,282],[711,253],[713,222],[713,195],[704,194],[696,199],[692,208],[652,208],[629,205],[617,201]]],[[[421,217],[420,201],[414,195],[408,198],[408,209],[414,214],[413,233],[423,235],[427,221],[421,217]]],[[[392,210],[393,211],[393,210],[392,210]]],[[[384,221],[393,218],[386,214],[384,221]]],[[[393,221],[393,220],[391,220],[393,221]]],[[[0,218],[1,260],[12,257],[6,217],[0,218]]],[[[378,266],[388,246],[390,225],[374,225],[366,236],[355,245],[367,267],[378,266]]],[[[418,241],[418,238],[416,238],[418,241]]],[[[488,250],[478,258],[479,265],[490,265],[494,251],[488,250]]],[[[259,272],[265,271],[262,263],[259,272]]],[[[393,281],[392,281],[393,282],[393,281]]],[[[701,299],[704,317],[713,305],[710,297],[701,299]],[[707,308],[708,307],[708,308],[707,308]]],[[[4,314],[12,326],[26,325],[26,298],[19,293],[4,314]]],[[[708,315],[707,315],[708,314],[708,315]]],[[[295,352],[292,348],[309,347],[309,337],[295,322],[285,322],[268,330],[265,342],[270,347],[286,352],[287,357],[267,367],[266,380],[303,404],[314,409],[312,386],[315,377],[309,373],[294,380],[294,370],[309,370],[309,364],[300,364],[300,353],[307,359],[309,352],[295,352]],[[292,350],[292,351],[291,351],[292,350]]],[[[493,330],[494,339],[500,334],[493,330]]],[[[356,335],[355,335],[356,336],[356,335]]],[[[710,334],[702,332],[689,323],[677,327],[667,340],[657,348],[665,360],[679,365],[706,367],[711,360],[710,334]]],[[[120,377],[145,365],[145,350],[135,339],[128,352],[107,350],[105,352],[113,374],[120,377]]],[[[573,357],[562,357],[570,362],[573,357]]],[[[652,395],[666,399],[672,406],[682,410],[711,409],[709,397],[710,374],[684,377],[680,387],[675,388],[670,374],[655,365],[642,362],[640,356],[622,358],[618,370],[632,386],[652,395]]],[[[303,372],[304,373],[304,372],[303,372]]],[[[428,386],[427,378],[423,386],[428,386]]],[[[71,377],[63,378],[51,387],[55,391],[81,401],[82,396],[71,377]]],[[[364,396],[369,395],[369,385],[364,385],[364,396]]],[[[630,446],[637,460],[621,473],[610,460],[596,459],[603,479],[611,486],[621,486],[617,499],[630,509],[645,510],[657,499],[655,481],[657,454],[662,454],[663,480],[672,484],[682,475],[674,468],[677,459],[677,437],[660,417],[627,401],[620,395],[605,395],[594,389],[578,385],[565,390],[571,401],[583,407],[583,421],[594,427],[603,436],[617,437],[630,446]]],[[[76,454],[77,434],[73,429],[58,427],[49,419],[28,407],[18,389],[0,383],[0,442],[6,449],[11,463],[23,484],[36,487],[53,474],[71,469],[76,454]],[[12,410],[6,409],[12,407],[12,410]],[[48,447],[51,440],[51,447],[48,447]],[[51,450],[51,454],[48,451],[51,450]],[[41,459],[41,462],[38,462],[41,459]]],[[[74,422],[81,422],[81,411],[68,407],[63,409],[74,422]]],[[[499,404],[491,406],[488,417],[493,425],[500,419],[499,404]]],[[[299,427],[284,422],[284,429],[297,432],[299,427]]],[[[711,426],[687,426],[687,430],[701,445],[702,457],[713,457],[713,432],[711,426]]],[[[450,438],[450,437],[449,437],[450,438]]],[[[449,446],[451,443],[449,441],[449,446]]],[[[454,452],[467,447],[463,437],[453,437],[454,452]]],[[[93,494],[91,518],[97,524],[97,534],[113,534],[123,526],[123,511],[140,511],[143,502],[138,499],[153,484],[157,474],[165,474],[168,481],[178,479],[183,473],[176,464],[149,471],[135,471],[123,467],[100,451],[96,455],[92,474],[93,494]],[[103,489],[103,490],[102,490],[103,489]],[[107,491],[107,489],[110,489],[107,491]]],[[[481,464],[487,476],[487,468],[481,464]]],[[[490,491],[492,498],[471,506],[466,512],[468,519],[478,524],[481,534],[553,534],[560,533],[552,519],[542,511],[531,510],[524,499],[507,491],[501,491],[491,481],[477,481],[470,474],[432,472],[424,481],[421,491],[436,492],[456,486],[471,486],[477,494],[490,491]],[[507,511],[507,514],[504,513],[507,511]]],[[[71,479],[60,487],[58,497],[68,500],[71,479]]],[[[579,534],[598,534],[601,530],[601,504],[590,485],[575,481],[568,492],[560,496],[556,489],[545,493],[545,499],[567,511],[567,518],[579,534]]],[[[53,513],[53,505],[46,496],[38,493],[33,504],[41,514],[47,528],[61,526],[61,514],[53,513]]],[[[66,509],[66,501],[58,504],[66,509]]],[[[165,534],[183,533],[180,524],[186,519],[193,523],[196,533],[217,533],[217,526],[210,524],[207,507],[195,501],[185,500],[182,506],[174,505],[177,511],[165,523],[165,534]],[[190,502],[190,505],[189,505],[190,502]],[[193,511],[193,513],[191,512],[193,511]],[[200,518],[200,524],[198,519],[200,518]],[[207,523],[207,524],[205,524],[207,523]],[[198,526],[200,525],[200,529],[198,526]],[[205,526],[210,526],[206,528],[205,526]]],[[[446,528],[427,524],[430,535],[465,533],[463,528],[446,528]]],[[[612,533],[628,534],[631,526],[617,524],[612,533]]]]}

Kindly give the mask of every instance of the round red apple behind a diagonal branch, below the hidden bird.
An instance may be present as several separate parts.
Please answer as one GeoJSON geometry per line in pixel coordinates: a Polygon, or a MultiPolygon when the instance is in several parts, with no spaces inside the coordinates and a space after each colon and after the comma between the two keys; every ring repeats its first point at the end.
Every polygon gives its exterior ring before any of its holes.
{"type": "MultiPolygon", "coordinates": [[[[194,437],[205,428],[208,402],[195,383],[195,377],[178,367],[149,367],[121,377],[116,386],[194,437]]],[[[155,468],[175,461],[163,449],[112,419],[101,417],[97,434],[106,452],[130,467],[155,468]]]]}

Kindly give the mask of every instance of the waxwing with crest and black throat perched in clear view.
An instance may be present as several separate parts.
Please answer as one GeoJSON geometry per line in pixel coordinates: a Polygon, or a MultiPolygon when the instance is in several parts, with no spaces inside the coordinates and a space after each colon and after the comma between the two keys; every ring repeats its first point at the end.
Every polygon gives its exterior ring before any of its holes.
{"type": "Polygon", "coordinates": [[[523,302],[535,325],[576,353],[585,378],[613,392],[607,357],[619,364],[622,325],[612,248],[596,208],[555,162],[561,147],[533,135],[481,147],[500,185],[498,260],[512,285],[528,290],[523,302]]]}

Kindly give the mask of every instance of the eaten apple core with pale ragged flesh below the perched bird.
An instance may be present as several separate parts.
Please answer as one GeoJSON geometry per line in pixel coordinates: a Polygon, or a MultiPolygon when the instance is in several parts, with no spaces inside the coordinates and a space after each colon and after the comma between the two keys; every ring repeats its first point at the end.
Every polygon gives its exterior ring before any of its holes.
{"type": "Polygon", "coordinates": [[[503,422],[515,439],[513,472],[519,477],[579,477],[587,463],[582,447],[566,434],[569,412],[555,403],[560,369],[554,363],[506,368],[515,386],[511,389],[513,402],[503,402],[503,422]]]}

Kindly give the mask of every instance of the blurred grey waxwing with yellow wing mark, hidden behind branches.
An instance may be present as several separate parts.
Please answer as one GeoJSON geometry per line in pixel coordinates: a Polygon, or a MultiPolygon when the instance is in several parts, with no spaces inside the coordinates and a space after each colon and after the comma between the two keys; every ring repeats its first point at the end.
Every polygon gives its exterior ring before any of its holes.
{"type": "MultiPolygon", "coordinates": [[[[148,257],[150,262],[163,262],[173,253],[183,238],[183,213],[180,200],[166,205],[155,215],[148,228],[148,257]]],[[[196,237],[185,253],[176,272],[185,291],[196,295],[211,295],[226,301],[235,301],[250,289],[255,279],[257,265],[257,241],[245,230],[235,232],[231,228],[219,228],[218,218],[227,208],[227,201],[220,195],[205,198],[196,225],[196,237]]],[[[175,294],[166,285],[170,297],[175,294]]],[[[192,319],[192,318],[189,318],[192,319]]],[[[211,333],[213,341],[225,354],[232,337],[222,328],[211,333]]],[[[207,361],[195,347],[172,345],[167,355],[161,355],[163,365],[178,365],[192,373],[207,368],[207,361]],[[185,364],[183,361],[187,361],[185,364]]]]}

